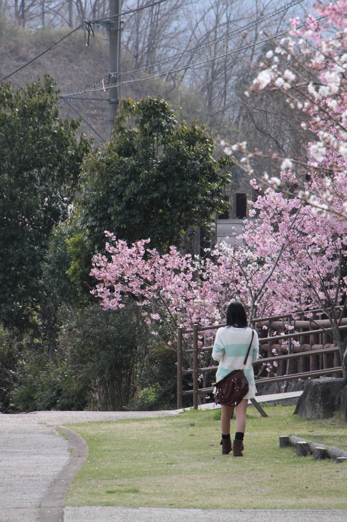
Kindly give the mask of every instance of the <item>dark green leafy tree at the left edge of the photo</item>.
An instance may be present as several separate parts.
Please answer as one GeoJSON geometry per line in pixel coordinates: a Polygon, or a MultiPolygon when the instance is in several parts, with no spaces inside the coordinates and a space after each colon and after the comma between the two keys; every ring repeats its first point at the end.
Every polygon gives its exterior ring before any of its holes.
{"type": "Polygon", "coordinates": [[[42,282],[47,244],[66,219],[79,165],[90,150],[78,120],[62,120],[51,77],[13,91],[0,85],[0,321],[26,328],[50,322],[42,282]]]}

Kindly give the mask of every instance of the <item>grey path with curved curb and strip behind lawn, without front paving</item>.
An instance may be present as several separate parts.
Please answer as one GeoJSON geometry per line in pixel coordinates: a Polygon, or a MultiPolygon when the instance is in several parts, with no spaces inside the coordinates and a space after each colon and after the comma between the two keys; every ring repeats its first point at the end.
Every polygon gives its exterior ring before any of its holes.
{"type": "Polygon", "coordinates": [[[178,412],[0,413],[0,522],[63,522],[64,497],[88,447],[61,424],[172,414],[178,412]]]}

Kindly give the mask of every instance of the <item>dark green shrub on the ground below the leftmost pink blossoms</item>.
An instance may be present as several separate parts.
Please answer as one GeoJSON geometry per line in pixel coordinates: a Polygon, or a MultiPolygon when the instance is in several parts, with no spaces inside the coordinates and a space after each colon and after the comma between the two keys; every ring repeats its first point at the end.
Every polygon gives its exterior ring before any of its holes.
{"type": "Polygon", "coordinates": [[[147,367],[152,336],[131,310],[100,305],[65,311],[58,339],[70,371],[85,383],[88,405],[122,410],[133,404],[147,367]]]}

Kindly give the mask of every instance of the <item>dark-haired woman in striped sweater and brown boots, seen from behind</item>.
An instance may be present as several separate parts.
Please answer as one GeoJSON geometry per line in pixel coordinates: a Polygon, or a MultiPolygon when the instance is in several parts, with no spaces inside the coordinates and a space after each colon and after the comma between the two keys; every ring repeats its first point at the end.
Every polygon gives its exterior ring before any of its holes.
{"type": "MultiPolygon", "coordinates": [[[[220,381],[233,370],[241,370],[247,350],[252,339],[252,328],[247,328],[246,312],[241,303],[234,301],[229,304],[227,310],[227,326],[217,330],[212,358],[219,361],[216,381],[220,381]]],[[[246,426],[246,410],[248,399],[255,397],[257,392],[254,382],[253,365],[258,358],[258,336],[254,331],[254,337],[249,357],[244,369],[244,374],[249,383],[249,392],[236,406],[236,433],[231,447],[230,420],[232,406],[221,406],[220,426],[222,433],[222,454],[231,452],[234,457],[243,457],[243,437],[246,426]]]]}

